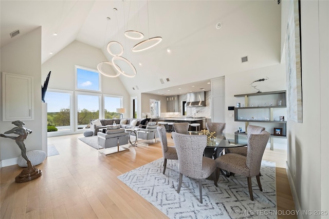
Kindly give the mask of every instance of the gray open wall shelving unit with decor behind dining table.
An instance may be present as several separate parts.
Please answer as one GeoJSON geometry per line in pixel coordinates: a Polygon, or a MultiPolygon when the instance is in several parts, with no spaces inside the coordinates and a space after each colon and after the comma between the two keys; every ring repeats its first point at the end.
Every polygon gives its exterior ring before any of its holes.
{"type": "MultiPolygon", "coordinates": [[[[234,121],[245,122],[245,130],[249,123],[265,127],[265,130],[271,133],[271,138],[286,138],[287,122],[286,118],[286,91],[272,91],[260,93],[237,94],[234,97],[243,97],[237,104],[240,107],[234,107],[234,121]],[[240,103],[239,103],[240,102],[240,103]],[[276,129],[281,130],[279,135],[276,129]]],[[[271,139],[271,149],[273,141],[271,139]]]]}

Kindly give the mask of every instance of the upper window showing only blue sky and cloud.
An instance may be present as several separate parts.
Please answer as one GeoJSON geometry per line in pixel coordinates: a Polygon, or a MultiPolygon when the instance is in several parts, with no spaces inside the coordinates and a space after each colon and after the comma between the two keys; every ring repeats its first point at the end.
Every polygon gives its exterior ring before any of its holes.
{"type": "Polygon", "coordinates": [[[97,70],[76,66],[76,89],[101,91],[100,73],[97,70]]]}

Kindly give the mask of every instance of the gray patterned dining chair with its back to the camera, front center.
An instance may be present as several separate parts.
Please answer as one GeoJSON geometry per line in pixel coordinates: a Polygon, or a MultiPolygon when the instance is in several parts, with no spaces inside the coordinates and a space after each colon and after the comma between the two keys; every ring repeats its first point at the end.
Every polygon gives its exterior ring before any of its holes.
{"type": "Polygon", "coordinates": [[[199,180],[200,203],[202,203],[201,180],[212,175],[214,184],[217,184],[216,162],[212,158],[203,156],[207,146],[207,136],[172,132],[172,137],[176,146],[179,163],[177,193],[180,191],[183,175],[195,178],[199,180]]]}

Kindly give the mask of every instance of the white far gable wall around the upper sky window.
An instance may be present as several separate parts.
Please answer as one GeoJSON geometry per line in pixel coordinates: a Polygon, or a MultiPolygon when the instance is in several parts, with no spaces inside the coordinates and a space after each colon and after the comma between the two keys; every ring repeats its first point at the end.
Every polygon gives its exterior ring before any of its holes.
{"type": "MultiPolygon", "coordinates": [[[[48,89],[75,90],[75,65],[97,70],[97,65],[106,60],[103,52],[95,47],[74,41],[42,65],[42,78],[51,71],[48,89]]],[[[130,96],[120,77],[106,77],[101,74],[102,94],[123,96],[123,117],[129,117],[130,96]]],[[[74,93],[75,96],[75,93],[74,93]]],[[[47,94],[46,94],[47,97],[47,94]]]]}

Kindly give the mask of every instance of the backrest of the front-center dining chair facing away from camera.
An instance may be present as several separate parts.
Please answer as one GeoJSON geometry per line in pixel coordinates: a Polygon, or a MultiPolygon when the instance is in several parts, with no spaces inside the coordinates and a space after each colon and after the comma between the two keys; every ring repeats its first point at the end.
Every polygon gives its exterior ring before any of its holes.
{"type": "Polygon", "coordinates": [[[179,173],[192,178],[201,178],[202,160],[207,146],[207,136],[176,132],[171,134],[177,150],[179,173]]]}

